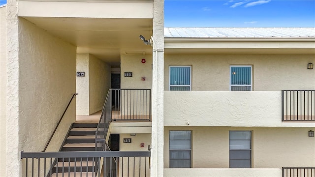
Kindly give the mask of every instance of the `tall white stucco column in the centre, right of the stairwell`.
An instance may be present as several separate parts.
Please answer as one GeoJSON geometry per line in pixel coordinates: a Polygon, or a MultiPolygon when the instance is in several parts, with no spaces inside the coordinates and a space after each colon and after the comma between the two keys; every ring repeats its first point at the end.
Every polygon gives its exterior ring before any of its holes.
{"type": "Polygon", "coordinates": [[[163,177],[164,0],[154,0],[153,40],[151,177],[163,177]]]}

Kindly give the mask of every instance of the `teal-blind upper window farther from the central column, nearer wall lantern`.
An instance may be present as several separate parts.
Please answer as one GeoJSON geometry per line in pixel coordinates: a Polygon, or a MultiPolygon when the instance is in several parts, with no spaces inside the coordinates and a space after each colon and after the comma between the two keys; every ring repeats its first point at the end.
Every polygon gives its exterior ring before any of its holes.
{"type": "Polygon", "coordinates": [[[252,90],[252,66],[230,66],[230,90],[252,90]]]}

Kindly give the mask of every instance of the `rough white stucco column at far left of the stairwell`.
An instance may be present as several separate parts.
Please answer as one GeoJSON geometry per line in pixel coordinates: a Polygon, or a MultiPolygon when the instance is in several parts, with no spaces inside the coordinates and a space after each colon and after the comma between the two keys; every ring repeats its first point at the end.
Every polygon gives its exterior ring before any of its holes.
{"type": "MultiPolygon", "coordinates": [[[[19,29],[17,1],[8,0],[7,15],[7,104],[6,104],[6,177],[21,177],[19,145],[19,29]]],[[[1,174],[3,175],[3,174],[1,174]]]]}

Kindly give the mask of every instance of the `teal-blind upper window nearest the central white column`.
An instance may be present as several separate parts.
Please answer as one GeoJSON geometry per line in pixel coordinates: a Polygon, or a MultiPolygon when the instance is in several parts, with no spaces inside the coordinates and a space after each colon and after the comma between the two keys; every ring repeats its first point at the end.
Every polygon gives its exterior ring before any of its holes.
{"type": "Polygon", "coordinates": [[[191,66],[169,67],[170,90],[191,90],[191,66]]]}

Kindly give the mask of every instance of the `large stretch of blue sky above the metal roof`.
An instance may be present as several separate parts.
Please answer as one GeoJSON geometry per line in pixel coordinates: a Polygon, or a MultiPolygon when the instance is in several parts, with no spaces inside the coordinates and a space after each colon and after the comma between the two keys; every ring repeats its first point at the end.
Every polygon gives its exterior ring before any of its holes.
{"type": "Polygon", "coordinates": [[[165,27],[315,27],[315,0],[165,0],[165,27]]]}

